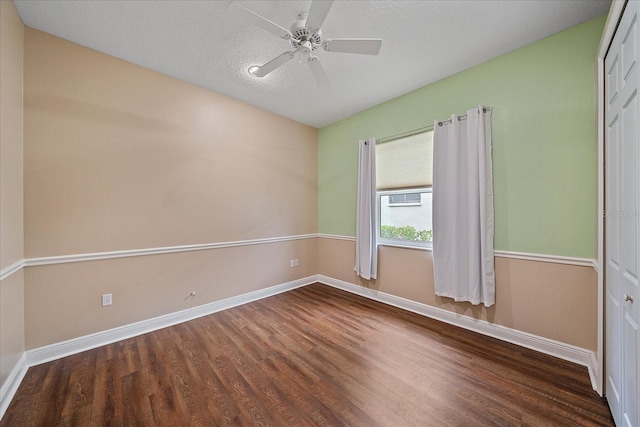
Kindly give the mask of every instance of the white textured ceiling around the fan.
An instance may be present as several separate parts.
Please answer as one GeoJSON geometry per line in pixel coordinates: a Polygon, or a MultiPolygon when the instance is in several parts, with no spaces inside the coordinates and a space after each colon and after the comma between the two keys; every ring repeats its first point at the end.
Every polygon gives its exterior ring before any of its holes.
{"type": "MultiPolygon", "coordinates": [[[[238,3],[289,28],[311,1],[238,3]]],[[[346,1],[323,38],[379,37],[378,56],[319,50],[331,86],[297,58],[259,79],[247,69],[289,43],[226,12],[229,1],[15,0],[25,25],[314,127],[562,31],[610,0],[346,1]]]]}

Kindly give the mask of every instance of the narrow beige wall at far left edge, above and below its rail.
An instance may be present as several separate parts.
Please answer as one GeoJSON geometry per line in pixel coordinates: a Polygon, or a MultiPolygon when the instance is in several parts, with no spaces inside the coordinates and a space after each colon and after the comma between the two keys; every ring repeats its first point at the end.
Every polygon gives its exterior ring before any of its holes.
{"type": "MultiPolygon", "coordinates": [[[[23,258],[23,32],[13,3],[0,1],[0,270],[23,258]]],[[[21,271],[0,282],[0,387],[24,354],[23,298],[21,271]]]]}

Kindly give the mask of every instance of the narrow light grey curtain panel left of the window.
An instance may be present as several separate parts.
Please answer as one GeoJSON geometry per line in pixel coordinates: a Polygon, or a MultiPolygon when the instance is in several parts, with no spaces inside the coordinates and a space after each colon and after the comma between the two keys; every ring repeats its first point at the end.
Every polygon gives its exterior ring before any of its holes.
{"type": "Polygon", "coordinates": [[[360,140],[357,197],[355,271],[363,279],[371,280],[378,274],[375,138],[360,140]]]}

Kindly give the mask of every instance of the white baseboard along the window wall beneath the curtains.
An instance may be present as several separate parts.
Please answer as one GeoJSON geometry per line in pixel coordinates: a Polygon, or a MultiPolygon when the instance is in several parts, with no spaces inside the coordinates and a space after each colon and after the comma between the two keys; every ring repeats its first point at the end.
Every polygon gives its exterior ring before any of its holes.
{"type": "Polygon", "coordinates": [[[453,313],[441,308],[432,307],[416,301],[401,298],[384,292],[368,289],[353,283],[334,279],[331,277],[318,275],[318,282],[351,292],[375,301],[383,302],[394,307],[402,308],[417,314],[421,314],[432,319],[440,320],[454,326],[459,326],[474,332],[481,333],[502,341],[536,350],[551,356],[558,357],[578,365],[586,366],[593,389],[597,391],[598,384],[598,363],[593,351],[571,344],[555,341],[549,338],[540,337],[506,326],[496,325],[486,320],[478,320],[469,316],[453,313]]]}

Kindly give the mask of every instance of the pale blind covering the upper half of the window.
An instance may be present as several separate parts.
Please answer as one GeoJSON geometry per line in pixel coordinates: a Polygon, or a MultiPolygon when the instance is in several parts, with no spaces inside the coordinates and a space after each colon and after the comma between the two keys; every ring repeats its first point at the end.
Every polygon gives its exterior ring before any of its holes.
{"type": "Polygon", "coordinates": [[[377,189],[431,187],[432,165],[433,131],[378,144],[377,189]]]}

